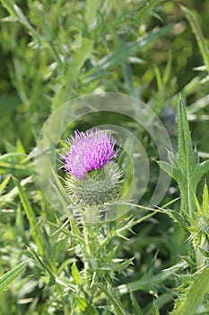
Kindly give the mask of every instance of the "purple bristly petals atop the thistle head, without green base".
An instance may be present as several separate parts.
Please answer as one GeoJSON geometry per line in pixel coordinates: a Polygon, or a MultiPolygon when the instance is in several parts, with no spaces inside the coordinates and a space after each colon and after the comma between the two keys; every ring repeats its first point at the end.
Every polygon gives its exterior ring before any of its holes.
{"type": "Polygon", "coordinates": [[[83,179],[87,172],[92,169],[100,169],[108,162],[118,156],[118,151],[114,150],[116,141],[107,131],[98,128],[91,128],[85,132],[76,130],[74,137],[66,140],[69,151],[65,152],[63,166],[65,170],[78,179],[83,179]]]}

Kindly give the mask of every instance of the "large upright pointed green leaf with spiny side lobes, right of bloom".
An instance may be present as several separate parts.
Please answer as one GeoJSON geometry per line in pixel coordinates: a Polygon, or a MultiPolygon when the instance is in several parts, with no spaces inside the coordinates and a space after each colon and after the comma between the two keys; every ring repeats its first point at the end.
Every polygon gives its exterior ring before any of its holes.
{"type": "Polygon", "coordinates": [[[201,177],[209,169],[209,162],[199,164],[199,159],[194,154],[192,140],[187,122],[186,106],[180,98],[178,107],[178,155],[168,152],[170,163],[160,161],[161,168],[172,176],[179,184],[181,197],[181,211],[193,217],[196,209],[194,194],[201,177]],[[173,170],[172,170],[173,166],[173,170]],[[171,172],[172,171],[172,172],[171,172]]]}

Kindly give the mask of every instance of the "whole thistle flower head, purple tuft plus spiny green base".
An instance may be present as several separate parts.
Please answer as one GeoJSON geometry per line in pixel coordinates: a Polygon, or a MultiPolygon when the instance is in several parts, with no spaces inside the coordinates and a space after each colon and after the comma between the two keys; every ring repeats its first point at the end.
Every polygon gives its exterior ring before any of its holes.
{"type": "Polygon", "coordinates": [[[60,154],[65,162],[66,189],[76,203],[103,204],[118,198],[122,172],[113,160],[116,141],[98,128],[74,132],[66,140],[69,150],[60,154]]]}

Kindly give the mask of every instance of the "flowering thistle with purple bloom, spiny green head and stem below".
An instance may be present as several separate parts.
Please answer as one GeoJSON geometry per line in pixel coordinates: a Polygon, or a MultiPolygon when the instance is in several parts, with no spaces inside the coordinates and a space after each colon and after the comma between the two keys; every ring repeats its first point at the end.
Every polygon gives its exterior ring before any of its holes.
{"type": "Polygon", "coordinates": [[[120,196],[123,172],[115,160],[120,148],[115,148],[116,141],[111,133],[98,128],[85,132],[75,130],[74,136],[66,139],[66,143],[69,148],[64,148],[64,154],[60,154],[63,159],[60,168],[65,169],[65,189],[71,205],[74,204],[75,218],[78,218],[77,210],[81,214],[77,222],[72,218],[70,220],[71,228],[80,238],[77,242],[75,237],[75,242],[84,266],[82,276],[73,266],[75,284],[80,288],[80,298],[91,290],[91,300],[87,299],[86,309],[91,310],[92,314],[95,309],[91,304],[94,295],[99,294],[98,290],[111,295],[115,311],[125,314],[109,282],[116,272],[124,271],[133,259],[115,259],[117,248],[108,250],[115,235],[114,229],[109,223],[95,222],[95,214],[100,218],[100,211],[106,209],[105,204],[116,201],[120,196]]]}

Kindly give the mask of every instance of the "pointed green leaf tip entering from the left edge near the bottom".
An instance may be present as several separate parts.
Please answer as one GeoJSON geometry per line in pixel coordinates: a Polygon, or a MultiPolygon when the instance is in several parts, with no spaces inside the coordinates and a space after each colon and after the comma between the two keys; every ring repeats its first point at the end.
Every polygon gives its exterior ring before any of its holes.
{"type": "Polygon", "coordinates": [[[0,293],[4,292],[4,290],[12,284],[19,275],[22,274],[27,264],[27,261],[23,261],[21,264],[13,267],[13,269],[8,271],[5,275],[0,276],[0,293]]]}

